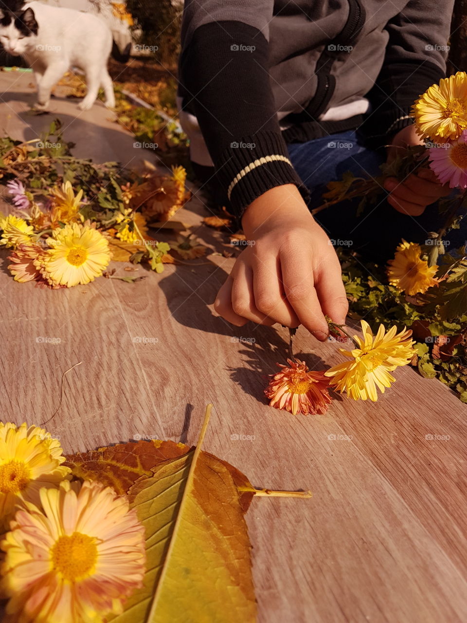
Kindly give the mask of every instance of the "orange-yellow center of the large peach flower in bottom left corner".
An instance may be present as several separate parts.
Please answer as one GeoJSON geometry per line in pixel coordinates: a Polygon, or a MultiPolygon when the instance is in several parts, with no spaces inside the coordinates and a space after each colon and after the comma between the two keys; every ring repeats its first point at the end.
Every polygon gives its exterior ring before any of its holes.
{"type": "Polygon", "coordinates": [[[50,550],[54,571],[61,573],[68,582],[90,576],[97,561],[95,541],[92,536],[80,532],[60,536],[50,550]]]}

